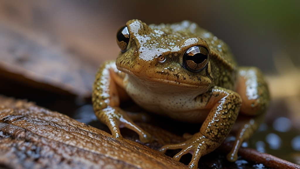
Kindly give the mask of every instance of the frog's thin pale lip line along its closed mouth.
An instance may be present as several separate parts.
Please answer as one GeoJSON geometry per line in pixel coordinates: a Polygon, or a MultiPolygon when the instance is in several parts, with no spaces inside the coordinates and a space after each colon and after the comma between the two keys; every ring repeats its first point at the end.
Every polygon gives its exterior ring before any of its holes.
{"type": "Polygon", "coordinates": [[[141,78],[140,76],[134,74],[134,72],[131,72],[130,70],[128,69],[125,69],[125,68],[122,68],[122,67],[118,67],[117,68],[124,72],[124,73],[127,73],[129,75],[133,75],[137,78],[140,78],[141,80],[150,80],[150,81],[155,81],[155,82],[159,82],[159,83],[165,83],[165,84],[170,84],[170,85],[174,85],[174,86],[179,86],[179,87],[183,87],[183,88],[194,88],[194,89],[197,89],[197,88],[203,88],[203,86],[198,86],[198,85],[192,85],[192,84],[186,84],[186,83],[180,83],[180,82],[176,82],[176,81],[172,81],[172,80],[166,80],[166,79],[161,79],[161,78],[151,78],[151,77],[143,77],[141,78]]]}

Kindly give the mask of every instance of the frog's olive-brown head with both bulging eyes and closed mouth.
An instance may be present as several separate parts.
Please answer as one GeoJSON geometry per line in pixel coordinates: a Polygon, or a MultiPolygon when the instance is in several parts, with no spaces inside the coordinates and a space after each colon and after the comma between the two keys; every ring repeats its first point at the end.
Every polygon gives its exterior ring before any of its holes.
{"type": "Polygon", "coordinates": [[[130,20],[117,33],[121,52],[116,66],[143,81],[208,89],[213,83],[210,48],[196,37],[197,29],[190,21],[148,26],[130,20]]]}

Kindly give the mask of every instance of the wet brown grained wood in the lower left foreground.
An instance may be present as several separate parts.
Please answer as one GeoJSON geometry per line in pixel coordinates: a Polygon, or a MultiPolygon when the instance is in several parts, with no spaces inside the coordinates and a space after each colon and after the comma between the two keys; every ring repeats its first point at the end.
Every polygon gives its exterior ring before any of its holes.
{"type": "Polygon", "coordinates": [[[9,168],[187,168],[138,143],[0,96],[0,164],[9,168]]]}

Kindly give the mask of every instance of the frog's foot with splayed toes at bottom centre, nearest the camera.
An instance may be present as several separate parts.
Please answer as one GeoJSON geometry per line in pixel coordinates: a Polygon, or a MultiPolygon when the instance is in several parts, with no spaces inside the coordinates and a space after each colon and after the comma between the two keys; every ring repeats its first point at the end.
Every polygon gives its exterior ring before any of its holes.
{"type": "Polygon", "coordinates": [[[168,149],[182,149],[173,157],[175,161],[179,161],[182,155],[191,153],[193,157],[188,167],[195,169],[198,167],[198,161],[200,157],[212,152],[218,146],[220,146],[220,143],[210,140],[199,132],[194,134],[192,138],[183,143],[165,145],[161,147],[159,151],[161,153],[165,153],[168,149]]]}

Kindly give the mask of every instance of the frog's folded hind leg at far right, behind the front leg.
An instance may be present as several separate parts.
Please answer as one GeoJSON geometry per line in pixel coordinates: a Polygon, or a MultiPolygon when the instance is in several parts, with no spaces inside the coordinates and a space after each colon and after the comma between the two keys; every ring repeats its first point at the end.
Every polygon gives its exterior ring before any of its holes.
{"type": "Polygon", "coordinates": [[[239,128],[234,132],[235,143],[227,155],[229,161],[237,160],[241,144],[247,141],[262,123],[270,99],[268,86],[256,67],[239,69],[236,92],[242,98],[242,105],[236,124],[239,128]]]}

